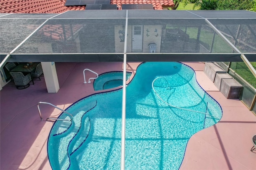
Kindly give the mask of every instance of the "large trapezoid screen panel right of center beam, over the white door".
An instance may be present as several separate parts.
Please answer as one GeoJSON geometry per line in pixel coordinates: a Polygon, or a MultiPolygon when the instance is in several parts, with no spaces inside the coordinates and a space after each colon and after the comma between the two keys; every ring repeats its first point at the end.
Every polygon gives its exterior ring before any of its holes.
{"type": "Polygon", "coordinates": [[[127,53],[232,53],[217,37],[204,19],[128,19],[127,53]]]}

